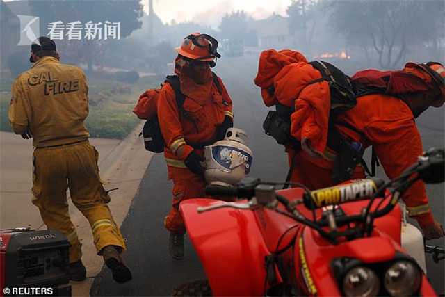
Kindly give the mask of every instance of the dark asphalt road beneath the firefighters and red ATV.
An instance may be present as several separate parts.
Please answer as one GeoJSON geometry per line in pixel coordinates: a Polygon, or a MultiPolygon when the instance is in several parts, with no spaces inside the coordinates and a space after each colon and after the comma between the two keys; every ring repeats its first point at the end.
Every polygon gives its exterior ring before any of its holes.
{"type": "MultiPolygon", "coordinates": [[[[256,70],[256,58],[242,61],[238,58],[225,59],[216,68],[234,101],[236,126],[245,129],[250,136],[249,145],[254,152],[251,175],[283,181],[288,168],[284,151],[272,138],[265,136],[261,129],[267,109],[261,102],[259,90],[252,83],[256,70]]],[[[419,121],[419,125],[425,147],[444,146],[443,109],[429,111],[419,121]]],[[[202,267],[188,242],[183,262],[174,261],[168,256],[168,232],[162,222],[170,207],[171,184],[165,179],[165,163],[161,155],[156,155],[145,172],[129,215],[122,225],[122,233],[128,239],[126,259],[133,271],[133,281],[129,284],[115,284],[109,271],[104,268],[92,286],[92,295],[165,296],[177,284],[204,278],[202,267]]],[[[435,214],[443,221],[444,189],[435,186],[428,191],[435,198],[432,201],[435,214]]],[[[438,265],[428,263],[428,269],[432,272],[430,275],[436,289],[444,291],[443,268],[440,270],[438,265]]]]}

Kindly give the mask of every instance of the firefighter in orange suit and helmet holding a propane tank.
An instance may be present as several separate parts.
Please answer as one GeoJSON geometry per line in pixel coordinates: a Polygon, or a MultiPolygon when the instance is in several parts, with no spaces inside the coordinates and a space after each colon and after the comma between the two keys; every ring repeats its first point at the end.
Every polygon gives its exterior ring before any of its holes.
{"type": "Polygon", "coordinates": [[[169,252],[184,258],[184,222],[179,203],[204,196],[203,148],[220,141],[233,127],[232,99],[223,81],[210,68],[220,58],[218,41],[193,33],[178,47],[175,73],[185,100],[178,108],[175,91],[165,83],[159,94],[157,113],[165,140],[168,178],[173,181],[172,208],[164,225],[170,231],[169,252]]]}

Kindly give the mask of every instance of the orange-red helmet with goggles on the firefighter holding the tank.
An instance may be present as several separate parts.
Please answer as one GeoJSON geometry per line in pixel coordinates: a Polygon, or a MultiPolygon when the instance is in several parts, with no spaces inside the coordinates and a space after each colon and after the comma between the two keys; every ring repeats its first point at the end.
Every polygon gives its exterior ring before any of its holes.
{"type": "Polygon", "coordinates": [[[218,41],[215,38],[207,34],[193,33],[184,38],[181,47],[177,47],[176,51],[192,60],[210,62],[220,58],[217,48],[218,41]]]}

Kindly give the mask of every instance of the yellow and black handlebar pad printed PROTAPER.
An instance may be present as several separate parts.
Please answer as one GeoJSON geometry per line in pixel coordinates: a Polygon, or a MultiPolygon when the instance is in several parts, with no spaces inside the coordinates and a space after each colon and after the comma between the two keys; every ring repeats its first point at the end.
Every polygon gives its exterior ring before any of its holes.
{"type": "Polygon", "coordinates": [[[350,184],[321,188],[305,193],[303,202],[308,209],[318,209],[334,204],[371,199],[383,184],[382,179],[359,179],[350,184]]]}

